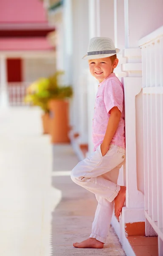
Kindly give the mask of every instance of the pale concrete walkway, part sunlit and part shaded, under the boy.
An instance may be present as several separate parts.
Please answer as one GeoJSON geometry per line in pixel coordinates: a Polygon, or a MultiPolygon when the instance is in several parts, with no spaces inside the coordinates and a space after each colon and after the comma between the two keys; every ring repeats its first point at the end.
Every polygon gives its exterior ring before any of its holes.
{"type": "Polygon", "coordinates": [[[0,111],[0,256],[124,256],[110,228],[104,249],[77,249],[91,232],[95,196],[74,184],[70,145],[42,136],[37,108],[0,111]]]}

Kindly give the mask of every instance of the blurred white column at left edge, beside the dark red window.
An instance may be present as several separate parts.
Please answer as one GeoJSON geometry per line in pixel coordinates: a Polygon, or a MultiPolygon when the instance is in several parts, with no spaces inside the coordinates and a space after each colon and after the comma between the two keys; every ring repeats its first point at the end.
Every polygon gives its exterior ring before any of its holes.
{"type": "Polygon", "coordinates": [[[0,107],[8,107],[6,56],[0,55],[0,107]]]}

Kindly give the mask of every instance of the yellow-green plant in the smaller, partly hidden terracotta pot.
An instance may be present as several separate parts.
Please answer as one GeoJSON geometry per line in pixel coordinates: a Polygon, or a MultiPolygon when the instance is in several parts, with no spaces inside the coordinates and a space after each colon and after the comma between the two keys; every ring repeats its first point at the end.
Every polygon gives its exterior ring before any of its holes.
{"type": "Polygon", "coordinates": [[[50,93],[48,92],[49,80],[40,78],[34,81],[28,88],[25,96],[25,102],[30,105],[39,106],[42,113],[43,134],[49,134],[49,108],[48,100],[50,93]]]}

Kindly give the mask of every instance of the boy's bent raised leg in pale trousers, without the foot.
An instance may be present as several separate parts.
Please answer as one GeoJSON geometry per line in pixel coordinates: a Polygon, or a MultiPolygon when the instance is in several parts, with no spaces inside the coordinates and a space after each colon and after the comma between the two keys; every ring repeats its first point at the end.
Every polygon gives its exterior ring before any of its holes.
{"type": "Polygon", "coordinates": [[[120,186],[102,175],[123,163],[125,149],[111,145],[107,154],[102,157],[100,146],[90,157],[77,164],[71,172],[71,179],[90,192],[112,202],[118,195],[120,186]]]}

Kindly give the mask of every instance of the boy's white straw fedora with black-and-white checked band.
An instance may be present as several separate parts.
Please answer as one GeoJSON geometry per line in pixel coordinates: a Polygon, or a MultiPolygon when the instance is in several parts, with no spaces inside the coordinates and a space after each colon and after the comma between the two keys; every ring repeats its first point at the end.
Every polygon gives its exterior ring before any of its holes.
{"type": "Polygon", "coordinates": [[[96,58],[106,58],[120,52],[120,49],[115,48],[115,45],[110,38],[95,37],[90,39],[87,55],[83,56],[85,60],[96,58]]]}

